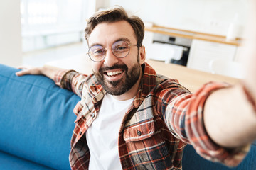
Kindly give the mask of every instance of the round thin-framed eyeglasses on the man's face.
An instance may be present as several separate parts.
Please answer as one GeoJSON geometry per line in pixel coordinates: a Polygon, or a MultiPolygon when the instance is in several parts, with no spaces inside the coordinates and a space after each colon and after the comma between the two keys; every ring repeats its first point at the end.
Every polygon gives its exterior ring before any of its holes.
{"type": "MultiPolygon", "coordinates": [[[[129,54],[129,47],[130,46],[137,46],[140,47],[140,45],[129,45],[127,42],[120,40],[117,42],[114,42],[114,44],[111,47],[112,53],[115,57],[123,58],[127,57],[129,54]]],[[[105,59],[107,50],[105,47],[102,47],[101,45],[94,45],[90,47],[88,51],[88,55],[90,59],[94,62],[101,62],[105,59]]]]}

